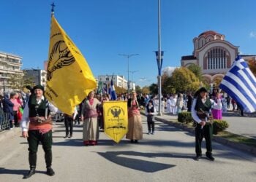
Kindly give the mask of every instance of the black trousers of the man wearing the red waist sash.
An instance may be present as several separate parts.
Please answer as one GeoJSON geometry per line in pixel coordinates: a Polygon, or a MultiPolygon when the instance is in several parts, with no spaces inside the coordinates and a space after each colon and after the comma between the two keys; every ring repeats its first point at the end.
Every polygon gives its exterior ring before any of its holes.
{"type": "Polygon", "coordinates": [[[52,151],[51,146],[53,143],[52,131],[40,133],[39,130],[29,130],[29,165],[30,168],[37,166],[37,149],[39,142],[42,143],[42,149],[45,151],[46,167],[51,167],[52,164],[52,151]]]}

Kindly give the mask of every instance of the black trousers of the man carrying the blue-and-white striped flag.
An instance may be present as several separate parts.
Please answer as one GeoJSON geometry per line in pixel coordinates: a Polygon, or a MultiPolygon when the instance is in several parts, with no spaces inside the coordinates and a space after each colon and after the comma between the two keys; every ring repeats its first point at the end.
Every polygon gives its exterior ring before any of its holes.
{"type": "Polygon", "coordinates": [[[212,138],[213,127],[212,124],[206,124],[203,129],[200,124],[195,127],[195,153],[202,155],[201,143],[203,138],[206,139],[206,154],[211,154],[211,138],[212,138]]]}

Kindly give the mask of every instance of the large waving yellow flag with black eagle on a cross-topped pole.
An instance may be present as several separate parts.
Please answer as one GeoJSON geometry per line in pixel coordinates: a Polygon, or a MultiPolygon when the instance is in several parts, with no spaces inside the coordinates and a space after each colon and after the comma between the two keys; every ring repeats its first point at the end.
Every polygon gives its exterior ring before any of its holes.
{"type": "Polygon", "coordinates": [[[62,112],[72,115],[75,106],[96,88],[96,80],[86,59],[51,17],[45,97],[62,112]]]}

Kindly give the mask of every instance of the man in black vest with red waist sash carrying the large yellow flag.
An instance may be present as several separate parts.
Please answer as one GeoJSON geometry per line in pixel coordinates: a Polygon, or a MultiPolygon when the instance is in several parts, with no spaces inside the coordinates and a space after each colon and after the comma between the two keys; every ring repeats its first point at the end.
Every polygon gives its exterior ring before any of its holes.
{"type": "Polygon", "coordinates": [[[56,113],[58,108],[53,106],[44,97],[44,87],[42,85],[34,86],[31,90],[32,94],[23,111],[23,118],[21,121],[22,136],[27,138],[29,142],[29,173],[23,178],[30,178],[36,173],[37,165],[37,148],[39,142],[42,143],[42,149],[45,151],[45,163],[48,175],[54,175],[51,168],[52,165],[52,121],[50,111],[56,113]]]}

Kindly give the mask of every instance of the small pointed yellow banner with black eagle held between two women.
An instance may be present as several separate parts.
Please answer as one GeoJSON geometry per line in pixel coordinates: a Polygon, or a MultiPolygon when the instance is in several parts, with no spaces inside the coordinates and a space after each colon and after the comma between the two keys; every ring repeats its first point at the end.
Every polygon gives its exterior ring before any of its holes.
{"type": "Polygon", "coordinates": [[[118,143],[128,132],[127,101],[103,102],[104,132],[118,143]]]}

